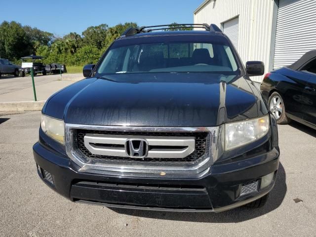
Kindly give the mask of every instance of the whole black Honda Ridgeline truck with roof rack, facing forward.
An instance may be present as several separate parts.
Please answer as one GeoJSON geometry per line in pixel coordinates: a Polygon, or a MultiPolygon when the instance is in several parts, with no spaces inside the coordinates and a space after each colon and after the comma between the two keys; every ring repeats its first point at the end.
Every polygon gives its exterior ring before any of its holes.
{"type": "Polygon", "coordinates": [[[244,68],[216,25],[192,26],[205,30],[128,29],[84,67],[86,79],[47,100],[33,149],[48,186],[109,207],[219,212],[266,203],[277,127],[249,79],[264,65],[244,68]]]}

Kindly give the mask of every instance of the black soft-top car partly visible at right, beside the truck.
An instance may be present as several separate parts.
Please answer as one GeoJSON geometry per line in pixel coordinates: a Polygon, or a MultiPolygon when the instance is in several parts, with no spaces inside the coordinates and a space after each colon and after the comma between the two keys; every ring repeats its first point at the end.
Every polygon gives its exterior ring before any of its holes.
{"type": "Polygon", "coordinates": [[[268,73],[260,89],[277,123],[293,119],[316,129],[316,50],[268,73]]]}

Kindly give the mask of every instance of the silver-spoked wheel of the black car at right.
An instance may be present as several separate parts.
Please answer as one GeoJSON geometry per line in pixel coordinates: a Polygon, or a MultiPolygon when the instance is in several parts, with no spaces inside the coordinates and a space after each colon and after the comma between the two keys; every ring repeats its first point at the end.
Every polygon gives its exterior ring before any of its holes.
{"type": "Polygon", "coordinates": [[[268,105],[277,124],[287,124],[291,121],[290,118],[286,117],[284,102],[279,93],[275,91],[270,95],[268,105]]]}

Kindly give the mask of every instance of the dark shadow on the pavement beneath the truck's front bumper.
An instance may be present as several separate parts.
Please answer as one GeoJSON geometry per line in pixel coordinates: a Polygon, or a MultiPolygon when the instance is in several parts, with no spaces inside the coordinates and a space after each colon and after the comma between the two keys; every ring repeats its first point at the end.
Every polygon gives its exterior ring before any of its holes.
{"type": "Polygon", "coordinates": [[[205,223],[236,223],[250,220],[265,215],[275,210],[282,203],[286,194],[286,175],[284,167],[279,163],[276,184],[270,192],[267,204],[264,207],[251,209],[248,207],[238,207],[229,211],[220,213],[190,213],[190,212],[162,212],[147,210],[132,210],[122,208],[110,208],[111,210],[125,215],[133,215],[145,218],[155,218],[173,221],[190,221],[205,223]]]}

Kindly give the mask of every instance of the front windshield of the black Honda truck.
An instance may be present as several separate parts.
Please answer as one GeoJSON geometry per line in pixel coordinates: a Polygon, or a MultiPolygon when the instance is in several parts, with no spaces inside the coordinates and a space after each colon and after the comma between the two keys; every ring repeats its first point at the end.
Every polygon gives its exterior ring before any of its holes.
{"type": "Polygon", "coordinates": [[[215,43],[162,41],[111,47],[97,73],[211,72],[236,75],[238,70],[231,47],[219,40],[215,43]]]}

